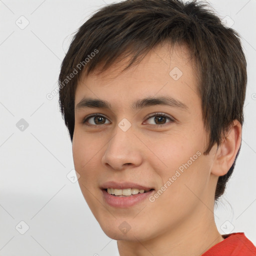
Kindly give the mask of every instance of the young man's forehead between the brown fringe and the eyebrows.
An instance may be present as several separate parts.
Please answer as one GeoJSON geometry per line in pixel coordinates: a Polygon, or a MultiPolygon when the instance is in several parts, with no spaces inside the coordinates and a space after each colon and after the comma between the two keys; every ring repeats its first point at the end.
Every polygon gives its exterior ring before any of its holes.
{"type": "Polygon", "coordinates": [[[192,94],[197,97],[197,70],[185,46],[158,45],[138,64],[121,72],[129,60],[120,58],[101,73],[97,73],[101,68],[98,66],[95,72],[82,75],[75,91],[75,105],[84,96],[123,104],[133,102],[132,98],[154,95],[169,95],[180,101],[191,101],[192,94]]]}

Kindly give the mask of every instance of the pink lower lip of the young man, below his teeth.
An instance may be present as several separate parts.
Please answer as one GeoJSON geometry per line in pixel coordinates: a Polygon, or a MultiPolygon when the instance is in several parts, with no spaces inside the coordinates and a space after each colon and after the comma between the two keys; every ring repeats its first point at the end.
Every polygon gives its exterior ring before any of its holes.
{"type": "Polygon", "coordinates": [[[125,208],[133,206],[134,204],[141,202],[145,198],[147,198],[154,190],[150,190],[145,193],[138,193],[129,196],[114,196],[109,194],[106,190],[102,189],[103,197],[105,201],[113,206],[118,208],[125,208]]]}

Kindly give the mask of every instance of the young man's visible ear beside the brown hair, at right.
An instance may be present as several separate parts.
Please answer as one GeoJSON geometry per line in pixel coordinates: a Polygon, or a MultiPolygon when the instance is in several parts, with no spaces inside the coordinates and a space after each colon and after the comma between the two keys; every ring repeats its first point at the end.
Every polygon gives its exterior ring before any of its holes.
{"type": "Polygon", "coordinates": [[[231,127],[226,132],[215,153],[211,168],[212,174],[222,176],[230,169],[241,144],[241,133],[240,122],[233,120],[231,127]]]}

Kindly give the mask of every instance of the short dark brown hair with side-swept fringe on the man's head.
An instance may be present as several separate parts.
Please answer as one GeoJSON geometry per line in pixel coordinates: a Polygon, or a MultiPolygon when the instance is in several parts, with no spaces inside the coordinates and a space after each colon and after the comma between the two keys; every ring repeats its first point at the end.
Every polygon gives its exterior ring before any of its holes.
{"type": "MultiPolygon", "coordinates": [[[[100,8],[81,25],[62,61],[58,78],[60,111],[71,141],[74,95],[81,73],[88,75],[99,63],[104,64],[100,72],[104,71],[127,53],[132,58],[125,70],[162,42],[187,45],[195,59],[202,118],[209,133],[204,154],[215,143],[220,145],[233,120],[243,124],[247,74],[239,35],[224,26],[208,7],[195,0],[124,0],[100,8]]],[[[215,200],[224,192],[239,150],[228,172],[218,177],[215,200]]]]}

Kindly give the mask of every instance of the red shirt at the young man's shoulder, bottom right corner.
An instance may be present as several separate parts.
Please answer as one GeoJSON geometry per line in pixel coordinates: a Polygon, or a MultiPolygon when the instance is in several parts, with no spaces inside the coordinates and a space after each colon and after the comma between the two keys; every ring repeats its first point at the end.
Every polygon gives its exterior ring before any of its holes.
{"type": "Polygon", "coordinates": [[[201,256],[256,256],[256,247],[244,233],[223,234],[223,241],[215,244],[201,256]]]}

